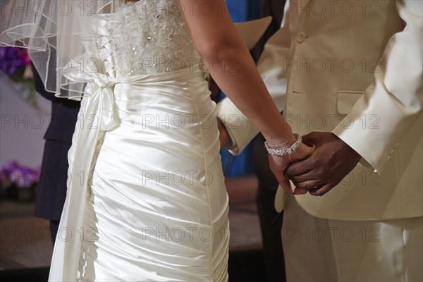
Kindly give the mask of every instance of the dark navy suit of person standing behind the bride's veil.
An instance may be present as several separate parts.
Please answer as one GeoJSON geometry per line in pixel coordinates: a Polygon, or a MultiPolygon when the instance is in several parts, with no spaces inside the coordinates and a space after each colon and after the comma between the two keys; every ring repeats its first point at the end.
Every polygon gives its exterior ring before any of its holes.
{"type": "Polygon", "coordinates": [[[71,147],[80,102],[58,98],[54,96],[54,93],[47,92],[34,66],[32,70],[35,90],[51,101],[50,124],[44,135],[46,142],[37,186],[35,216],[49,219],[51,240],[54,244],[66,198],[68,150],[71,147]]]}

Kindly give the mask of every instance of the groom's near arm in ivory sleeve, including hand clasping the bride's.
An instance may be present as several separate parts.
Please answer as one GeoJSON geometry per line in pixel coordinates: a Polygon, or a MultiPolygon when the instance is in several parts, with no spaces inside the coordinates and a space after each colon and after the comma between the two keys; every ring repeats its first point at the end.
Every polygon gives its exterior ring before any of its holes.
{"type": "Polygon", "coordinates": [[[332,133],[310,133],[303,138],[316,145],[314,153],[286,171],[296,187],[302,188],[300,191],[324,195],[360,159],[381,173],[402,138],[422,115],[422,1],[397,1],[397,9],[405,28],[386,44],[374,83],[348,114],[351,126],[342,126],[345,121],[332,133]],[[358,122],[362,116],[377,117],[379,130],[363,128],[358,122]],[[321,171],[330,177],[317,177],[324,176],[321,171]]]}

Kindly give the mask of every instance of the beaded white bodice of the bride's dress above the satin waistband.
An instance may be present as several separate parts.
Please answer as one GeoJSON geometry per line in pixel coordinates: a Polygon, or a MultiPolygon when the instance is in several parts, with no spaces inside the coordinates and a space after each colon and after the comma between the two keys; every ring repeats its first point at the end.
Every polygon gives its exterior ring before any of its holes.
{"type": "Polygon", "coordinates": [[[200,63],[175,0],[140,0],[100,17],[103,73],[119,78],[178,71],[200,63]]]}

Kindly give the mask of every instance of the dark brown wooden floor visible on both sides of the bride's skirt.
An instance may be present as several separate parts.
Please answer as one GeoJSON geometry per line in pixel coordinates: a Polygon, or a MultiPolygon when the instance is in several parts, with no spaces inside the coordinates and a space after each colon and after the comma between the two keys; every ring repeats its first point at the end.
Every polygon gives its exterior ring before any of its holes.
{"type": "MultiPolygon", "coordinates": [[[[257,178],[230,178],[226,186],[231,207],[231,281],[263,281],[262,237],[255,205],[257,178]]],[[[0,202],[0,278],[7,281],[47,279],[52,252],[49,225],[32,216],[33,209],[34,203],[0,202]]]]}

